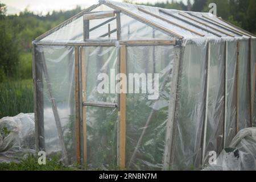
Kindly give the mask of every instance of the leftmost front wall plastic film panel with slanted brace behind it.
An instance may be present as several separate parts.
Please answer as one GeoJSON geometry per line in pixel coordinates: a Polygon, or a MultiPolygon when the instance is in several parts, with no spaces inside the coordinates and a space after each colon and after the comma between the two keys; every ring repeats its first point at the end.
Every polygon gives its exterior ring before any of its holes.
{"type": "Polygon", "coordinates": [[[38,111],[43,109],[43,121],[42,118],[39,118],[40,122],[38,127],[43,127],[44,136],[39,136],[39,138],[44,138],[47,155],[61,156],[61,150],[63,150],[63,148],[60,144],[59,133],[52,108],[54,100],[61,122],[68,160],[69,163],[75,163],[74,48],[38,46],[36,51],[40,55],[36,64],[39,64],[38,66],[43,69],[43,88],[41,87],[38,93],[43,97],[43,103],[41,103],[43,108],[38,108],[38,111]],[[42,68],[42,62],[39,60],[45,61],[46,68],[42,68]],[[48,78],[44,69],[47,69],[48,78]],[[48,87],[48,84],[51,88],[48,87]],[[50,96],[50,92],[52,97],[50,96]]]}

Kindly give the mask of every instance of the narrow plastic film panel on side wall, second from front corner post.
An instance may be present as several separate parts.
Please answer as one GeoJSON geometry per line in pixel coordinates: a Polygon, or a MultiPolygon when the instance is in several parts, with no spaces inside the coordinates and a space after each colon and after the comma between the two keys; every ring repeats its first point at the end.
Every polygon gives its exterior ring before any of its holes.
{"type": "Polygon", "coordinates": [[[224,130],[225,43],[210,43],[206,153],[220,154],[224,130]],[[216,127],[218,126],[218,127],[216,127]]]}

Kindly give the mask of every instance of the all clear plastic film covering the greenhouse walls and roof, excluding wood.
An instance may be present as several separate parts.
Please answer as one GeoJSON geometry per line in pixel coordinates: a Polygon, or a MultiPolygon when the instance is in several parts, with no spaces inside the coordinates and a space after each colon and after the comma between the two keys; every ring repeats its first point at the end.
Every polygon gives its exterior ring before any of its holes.
{"type": "MultiPolygon", "coordinates": [[[[237,127],[240,130],[251,126],[249,91],[251,93],[255,92],[253,88],[255,82],[253,80],[255,79],[254,50],[256,47],[254,38],[251,38],[251,55],[249,55],[250,39],[245,36],[246,33],[243,32],[245,35],[234,33],[234,31],[240,31],[241,33],[241,30],[230,27],[230,25],[208,13],[164,10],[178,17],[175,18],[174,16],[163,14],[160,11],[161,9],[157,7],[129,5],[112,1],[101,2],[105,3],[105,5],[101,5],[93,11],[113,10],[107,6],[108,3],[116,6],[117,10],[118,7],[121,7],[127,11],[126,14],[121,11],[121,41],[176,39],[175,36],[164,33],[167,32],[164,30],[171,30],[184,37],[184,39],[176,42],[182,48],[179,60],[180,72],[178,84],[176,85],[175,125],[174,131],[171,131],[173,139],[170,151],[170,169],[199,169],[204,163],[202,159],[208,159],[209,151],[216,151],[217,154],[220,154],[223,147],[229,146],[234,135],[236,135],[237,127]],[[173,23],[145,13],[139,10],[138,7],[205,36],[201,37],[173,23]],[[186,18],[181,14],[186,14],[190,18],[186,18]],[[138,19],[147,19],[148,22],[143,23],[143,21],[134,19],[132,18],[134,17],[133,15],[137,15],[138,19]],[[203,19],[205,19],[204,16],[207,16],[220,22],[220,24],[224,23],[226,28],[210,24],[207,19],[202,20],[193,15],[203,19]],[[197,19],[199,22],[191,18],[197,19]],[[196,26],[189,24],[187,21],[196,24],[196,26]],[[162,31],[160,31],[161,27],[162,31]],[[215,34],[219,34],[222,37],[217,38],[215,34]],[[210,60],[208,65],[209,94],[207,98],[208,43],[210,43],[210,60]],[[225,43],[228,46],[226,55],[225,43]],[[237,43],[239,44],[238,56],[237,43]],[[226,70],[225,57],[227,57],[228,65],[226,70]],[[249,62],[249,58],[251,62],[249,62]],[[251,65],[250,68],[249,65],[251,65]],[[226,90],[225,73],[227,75],[226,90]],[[251,85],[251,88],[249,88],[249,85],[251,85]],[[206,108],[207,99],[208,106],[206,108]],[[226,112],[225,105],[227,106],[226,112]],[[207,110],[208,113],[205,116],[207,110]],[[238,118],[236,117],[237,114],[238,118]],[[207,123],[205,123],[205,117],[207,118],[207,123]],[[238,123],[236,123],[237,119],[238,123]],[[205,124],[207,124],[206,130],[204,130],[205,124]],[[205,136],[204,133],[206,134],[205,136]],[[205,156],[203,156],[202,148],[204,139],[205,156]]],[[[107,19],[90,20],[90,28],[107,19]]],[[[116,28],[116,23],[116,20],[109,22],[110,30],[116,28]]],[[[111,70],[114,70],[115,74],[118,73],[119,40],[116,40],[116,32],[113,32],[110,37],[108,36],[107,25],[105,24],[91,31],[89,37],[92,42],[94,40],[114,42],[115,46],[82,47],[82,44],[80,44],[78,48],[84,52],[82,57],[85,57],[85,68],[81,69],[84,69],[86,73],[86,101],[117,104],[119,102],[117,93],[99,94],[97,92],[98,75],[100,73],[106,73],[110,77],[111,70]]],[[[34,44],[46,42],[56,43],[57,45],[65,42],[82,43],[83,31],[83,21],[82,17],[80,17],[71,23],[64,24],[59,30],[38,42],[34,42],[34,44]]],[[[70,163],[76,161],[74,49],[74,47],[69,46],[39,46],[39,44],[36,45],[35,49],[36,68],[39,71],[36,73],[38,74],[36,76],[36,84],[38,86],[36,92],[40,96],[37,114],[40,115],[39,127],[42,131],[42,134],[38,136],[39,141],[42,140],[41,142],[44,143],[48,155],[60,154],[61,145],[53,114],[54,106],[52,101],[54,100],[60,116],[61,129],[63,130],[65,147],[68,151],[70,163]],[[46,74],[42,71],[43,60],[46,62],[48,69],[48,79],[46,79],[46,74]],[[42,74],[40,75],[40,73],[42,74]],[[49,92],[49,85],[52,88],[51,92],[49,92]]],[[[159,98],[157,100],[148,100],[150,95],[148,93],[128,93],[126,95],[126,168],[128,169],[163,168],[163,151],[166,145],[164,136],[166,136],[167,119],[170,119],[168,118],[170,117],[168,107],[172,104],[170,103],[170,89],[173,60],[173,46],[127,45],[127,73],[159,73],[159,98]]],[[[128,83],[128,88],[131,88],[131,86],[128,83]]],[[[144,85],[138,85],[137,83],[137,86],[142,89],[144,85]]],[[[256,105],[255,103],[256,101],[254,100],[254,105],[256,105]]],[[[252,113],[254,125],[255,108],[252,113]]],[[[86,106],[87,159],[89,167],[102,169],[115,169],[118,167],[118,117],[117,109],[86,106]]]]}

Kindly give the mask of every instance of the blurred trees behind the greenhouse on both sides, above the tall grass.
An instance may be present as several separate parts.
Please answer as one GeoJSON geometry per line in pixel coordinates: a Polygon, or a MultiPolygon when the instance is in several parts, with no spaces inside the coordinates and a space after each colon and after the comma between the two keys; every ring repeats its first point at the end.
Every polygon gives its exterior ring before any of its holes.
{"type": "MultiPolygon", "coordinates": [[[[255,0],[188,0],[186,5],[183,1],[168,0],[141,5],[208,12],[209,3],[216,3],[217,16],[256,33],[255,0]]],[[[81,7],[77,6],[74,10],[53,11],[47,15],[38,15],[27,9],[19,15],[6,15],[6,5],[0,2],[0,82],[31,78],[32,40],[80,11],[81,7]]]]}

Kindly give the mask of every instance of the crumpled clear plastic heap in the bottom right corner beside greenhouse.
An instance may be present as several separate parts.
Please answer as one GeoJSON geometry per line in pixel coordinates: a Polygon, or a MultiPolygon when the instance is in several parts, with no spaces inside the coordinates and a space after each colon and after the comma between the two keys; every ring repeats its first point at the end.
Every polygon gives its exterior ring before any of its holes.
{"type": "Polygon", "coordinates": [[[203,170],[256,171],[256,128],[240,130],[214,162],[203,170]]]}

